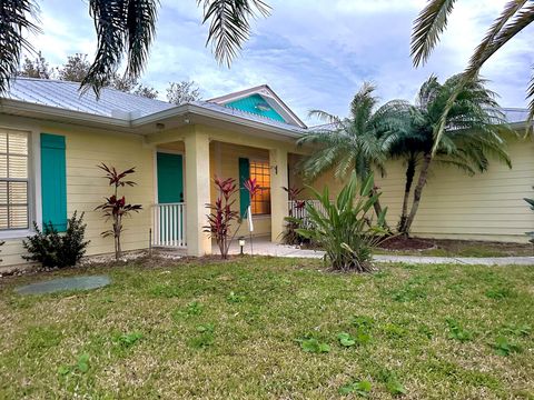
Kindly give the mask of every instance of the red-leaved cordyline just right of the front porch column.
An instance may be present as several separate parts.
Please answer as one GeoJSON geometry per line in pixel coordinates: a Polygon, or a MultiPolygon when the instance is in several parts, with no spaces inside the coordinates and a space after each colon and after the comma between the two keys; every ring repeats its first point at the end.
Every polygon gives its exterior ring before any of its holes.
{"type": "MultiPolygon", "coordinates": [[[[236,202],[234,196],[239,191],[234,178],[219,179],[215,178],[214,183],[219,191],[219,196],[214,204],[206,204],[206,208],[210,210],[208,217],[208,226],[204,227],[204,231],[208,232],[211,238],[215,239],[220,251],[222,259],[228,258],[228,250],[230,249],[231,241],[234,240],[239,227],[243,223],[243,219],[238,211],[233,210],[233,206],[236,202]],[[231,224],[234,221],[238,221],[237,228],[231,231],[231,224]]],[[[248,179],[244,183],[247,189],[250,199],[261,190],[256,183],[256,179],[248,179]]]]}

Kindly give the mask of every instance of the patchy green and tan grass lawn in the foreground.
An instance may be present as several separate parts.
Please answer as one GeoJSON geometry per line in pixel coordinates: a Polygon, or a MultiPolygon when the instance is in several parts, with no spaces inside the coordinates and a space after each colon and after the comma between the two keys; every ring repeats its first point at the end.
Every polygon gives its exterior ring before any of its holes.
{"type": "Polygon", "coordinates": [[[4,278],[0,398],[532,399],[533,294],[528,267],[248,257],[4,278]],[[82,272],[112,284],[13,293],[82,272]]]}

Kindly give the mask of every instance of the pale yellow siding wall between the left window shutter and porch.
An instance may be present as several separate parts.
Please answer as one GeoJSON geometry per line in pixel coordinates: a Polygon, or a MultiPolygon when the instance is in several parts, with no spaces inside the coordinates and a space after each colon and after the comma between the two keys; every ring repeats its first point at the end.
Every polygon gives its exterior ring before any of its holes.
{"type": "MultiPolygon", "coordinates": [[[[13,127],[14,128],[14,127],[13,127]]],[[[87,254],[113,251],[112,238],[102,238],[100,233],[110,228],[101,212],[95,208],[111,194],[111,188],[97,164],[105,162],[117,169],[136,167],[132,180],[137,186],[125,188],[128,202],[140,203],[144,210],[123,221],[123,250],[148,247],[148,230],[151,223],[150,204],[154,202],[152,150],[144,146],[142,138],[134,134],[120,134],[109,131],[86,130],[80,127],[40,126],[41,132],[63,134],[66,137],[67,159],[67,211],[70,217],[75,210],[85,212],[86,237],[90,240],[87,254]]],[[[39,151],[39,149],[33,149],[39,151]]],[[[1,248],[1,266],[24,262],[21,239],[6,240],[1,248]]]]}

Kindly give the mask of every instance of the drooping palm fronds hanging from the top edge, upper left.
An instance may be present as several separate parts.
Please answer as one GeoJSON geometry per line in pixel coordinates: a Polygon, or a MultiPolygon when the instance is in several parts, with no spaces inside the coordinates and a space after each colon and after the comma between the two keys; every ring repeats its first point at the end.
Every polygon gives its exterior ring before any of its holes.
{"type": "MultiPolygon", "coordinates": [[[[250,34],[250,20],[267,16],[269,6],[263,0],[197,0],[202,6],[202,23],[209,23],[207,44],[215,58],[230,64],[250,34]]],[[[146,67],[155,34],[158,0],[89,0],[95,20],[97,54],[81,89],[92,88],[97,96],[112,80],[123,59],[125,77],[135,81],[146,67]]],[[[23,50],[34,52],[26,39],[40,32],[37,0],[0,1],[0,94],[17,73],[23,50]]]]}

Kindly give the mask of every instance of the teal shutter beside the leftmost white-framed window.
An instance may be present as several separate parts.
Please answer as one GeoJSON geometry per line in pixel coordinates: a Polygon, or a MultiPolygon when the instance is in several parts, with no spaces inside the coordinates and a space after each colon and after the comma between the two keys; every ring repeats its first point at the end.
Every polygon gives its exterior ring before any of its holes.
{"type": "Polygon", "coordinates": [[[67,230],[67,172],[65,137],[41,133],[42,222],[67,230]]]}

